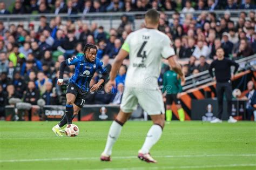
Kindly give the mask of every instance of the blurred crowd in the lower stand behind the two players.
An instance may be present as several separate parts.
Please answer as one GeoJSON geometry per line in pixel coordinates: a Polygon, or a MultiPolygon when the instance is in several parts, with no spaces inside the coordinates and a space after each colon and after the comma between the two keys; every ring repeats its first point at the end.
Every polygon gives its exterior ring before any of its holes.
{"type": "MultiPolygon", "coordinates": [[[[57,2],[61,1],[55,3],[57,2]]],[[[74,2],[76,1],[72,1],[74,2]]],[[[100,1],[102,2],[104,1],[100,1]]],[[[123,3],[113,1],[110,4],[115,2],[123,3]]],[[[146,1],[137,1],[137,4],[139,2],[146,1]]],[[[152,6],[154,2],[157,1],[153,1],[152,6]]],[[[200,2],[203,1],[198,4],[200,2]]],[[[68,3],[66,5],[69,5],[68,3]]],[[[86,1],[85,4],[87,3],[91,2],[86,1]]],[[[110,4],[105,5],[106,9],[110,4]]],[[[190,5],[190,1],[185,2],[185,8],[190,5]]],[[[0,6],[3,6],[3,3],[0,6]]],[[[37,100],[43,98],[46,105],[64,105],[66,86],[56,85],[60,63],[69,57],[82,55],[84,45],[91,43],[97,45],[97,57],[102,59],[110,71],[110,60],[116,57],[127,35],[133,31],[132,24],[129,15],[123,15],[118,28],[110,30],[105,30],[97,23],[89,25],[79,20],[75,23],[71,20],[63,22],[59,16],[50,21],[41,16],[38,29],[35,29],[33,23],[28,23],[28,29],[25,29],[23,23],[4,26],[4,23],[0,22],[0,107],[8,105],[8,100],[14,97],[22,98],[31,104],[37,104],[37,100]]],[[[144,27],[143,23],[141,28],[144,27]]],[[[191,13],[184,15],[178,12],[168,17],[161,12],[158,29],[172,39],[176,57],[179,60],[187,60],[187,64],[183,65],[185,76],[208,70],[210,61],[216,59],[215,50],[218,47],[223,47],[225,57],[230,59],[256,53],[254,11],[241,12],[239,18],[234,20],[228,11],[223,18],[217,17],[214,12],[204,11],[197,17],[191,13]]],[[[107,94],[104,89],[89,93],[86,104],[120,104],[128,65],[129,58],[118,72],[117,88],[113,89],[113,93],[107,94]]],[[[73,70],[73,66],[66,67],[65,83],[72,76],[73,70]]],[[[163,83],[161,77],[167,70],[169,66],[163,63],[159,85],[163,83]]],[[[97,83],[100,77],[101,73],[97,72],[91,84],[97,83]]]]}

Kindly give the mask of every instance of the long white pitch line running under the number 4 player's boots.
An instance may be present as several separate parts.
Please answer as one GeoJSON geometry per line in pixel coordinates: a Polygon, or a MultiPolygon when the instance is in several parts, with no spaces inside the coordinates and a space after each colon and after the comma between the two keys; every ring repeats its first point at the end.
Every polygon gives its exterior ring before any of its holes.
{"type": "MultiPolygon", "coordinates": [[[[163,155],[154,156],[154,158],[183,158],[183,157],[255,157],[256,154],[212,154],[212,155],[163,155]]],[[[135,156],[130,157],[112,157],[113,159],[130,159],[137,158],[135,156]]],[[[36,162],[36,161],[62,161],[62,160],[99,160],[99,157],[84,157],[84,158],[44,158],[44,159],[10,159],[0,160],[1,162],[36,162]]]]}

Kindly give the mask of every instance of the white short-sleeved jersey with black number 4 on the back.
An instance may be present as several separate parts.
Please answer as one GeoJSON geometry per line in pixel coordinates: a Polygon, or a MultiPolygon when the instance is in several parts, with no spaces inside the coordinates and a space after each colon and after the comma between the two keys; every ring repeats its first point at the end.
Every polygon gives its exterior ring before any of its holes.
{"type": "Polygon", "coordinates": [[[170,38],[156,29],[140,29],[130,33],[122,49],[129,52],[130,65],[125,86],[158,86],[161,58],[173,56],[170,38]]]}

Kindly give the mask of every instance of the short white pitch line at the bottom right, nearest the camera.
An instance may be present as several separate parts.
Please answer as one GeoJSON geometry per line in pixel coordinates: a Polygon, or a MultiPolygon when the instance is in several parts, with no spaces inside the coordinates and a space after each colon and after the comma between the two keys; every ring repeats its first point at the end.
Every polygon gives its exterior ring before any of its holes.
{"type": "Polygon", "coordinates": [[[224,168],[224,167],[254,167],[256,164],[227,164],[227,165],[192,165],[192,166],[160,166],[160,167],[131,167],[131,168],[103,168],[101,170],[133,170],[133,169],[201,169],[201,168],[224,168]]]}

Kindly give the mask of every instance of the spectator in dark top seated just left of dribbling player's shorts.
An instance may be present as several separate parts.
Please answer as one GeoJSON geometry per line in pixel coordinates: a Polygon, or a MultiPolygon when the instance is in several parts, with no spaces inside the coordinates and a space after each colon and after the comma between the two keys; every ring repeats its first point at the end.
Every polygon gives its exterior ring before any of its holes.
{"type": "Polygon", "coordinates": [[[45,105],[58,105],[58,96],[55,91],[52,90],[52,83],[45,83],[45,92],[42,94],[42,98],[45,101],[45,105]]]}

